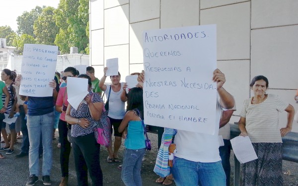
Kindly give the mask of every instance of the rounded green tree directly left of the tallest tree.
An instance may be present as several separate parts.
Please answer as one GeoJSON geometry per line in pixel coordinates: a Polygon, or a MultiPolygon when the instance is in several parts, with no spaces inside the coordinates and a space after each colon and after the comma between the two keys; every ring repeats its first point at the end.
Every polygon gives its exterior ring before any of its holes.
{"type": "Polygon", "coordinates": [[[54,45],[59,28],[54,19],[54,9],[51,6],[44,7],[38,19],[34,21],[33,29],[36,35],[36,43],[54,45]]]}

